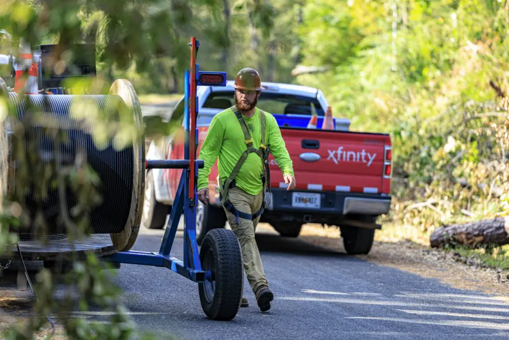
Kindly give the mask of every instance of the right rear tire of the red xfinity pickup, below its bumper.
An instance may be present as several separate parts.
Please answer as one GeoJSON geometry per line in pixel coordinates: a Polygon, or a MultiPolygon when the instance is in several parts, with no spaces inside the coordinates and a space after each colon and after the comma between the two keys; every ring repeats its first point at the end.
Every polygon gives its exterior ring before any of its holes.
{"type": "MultiPolygon", "coordinates": [[[[375,222],[375,216],[360,216],[360,221],[375,222]]],[[[340,226],[343,245],[347,254],[359,255],[368,254],[373,246],[375,229],[357,228],[351,226],[340,226]]]]}

